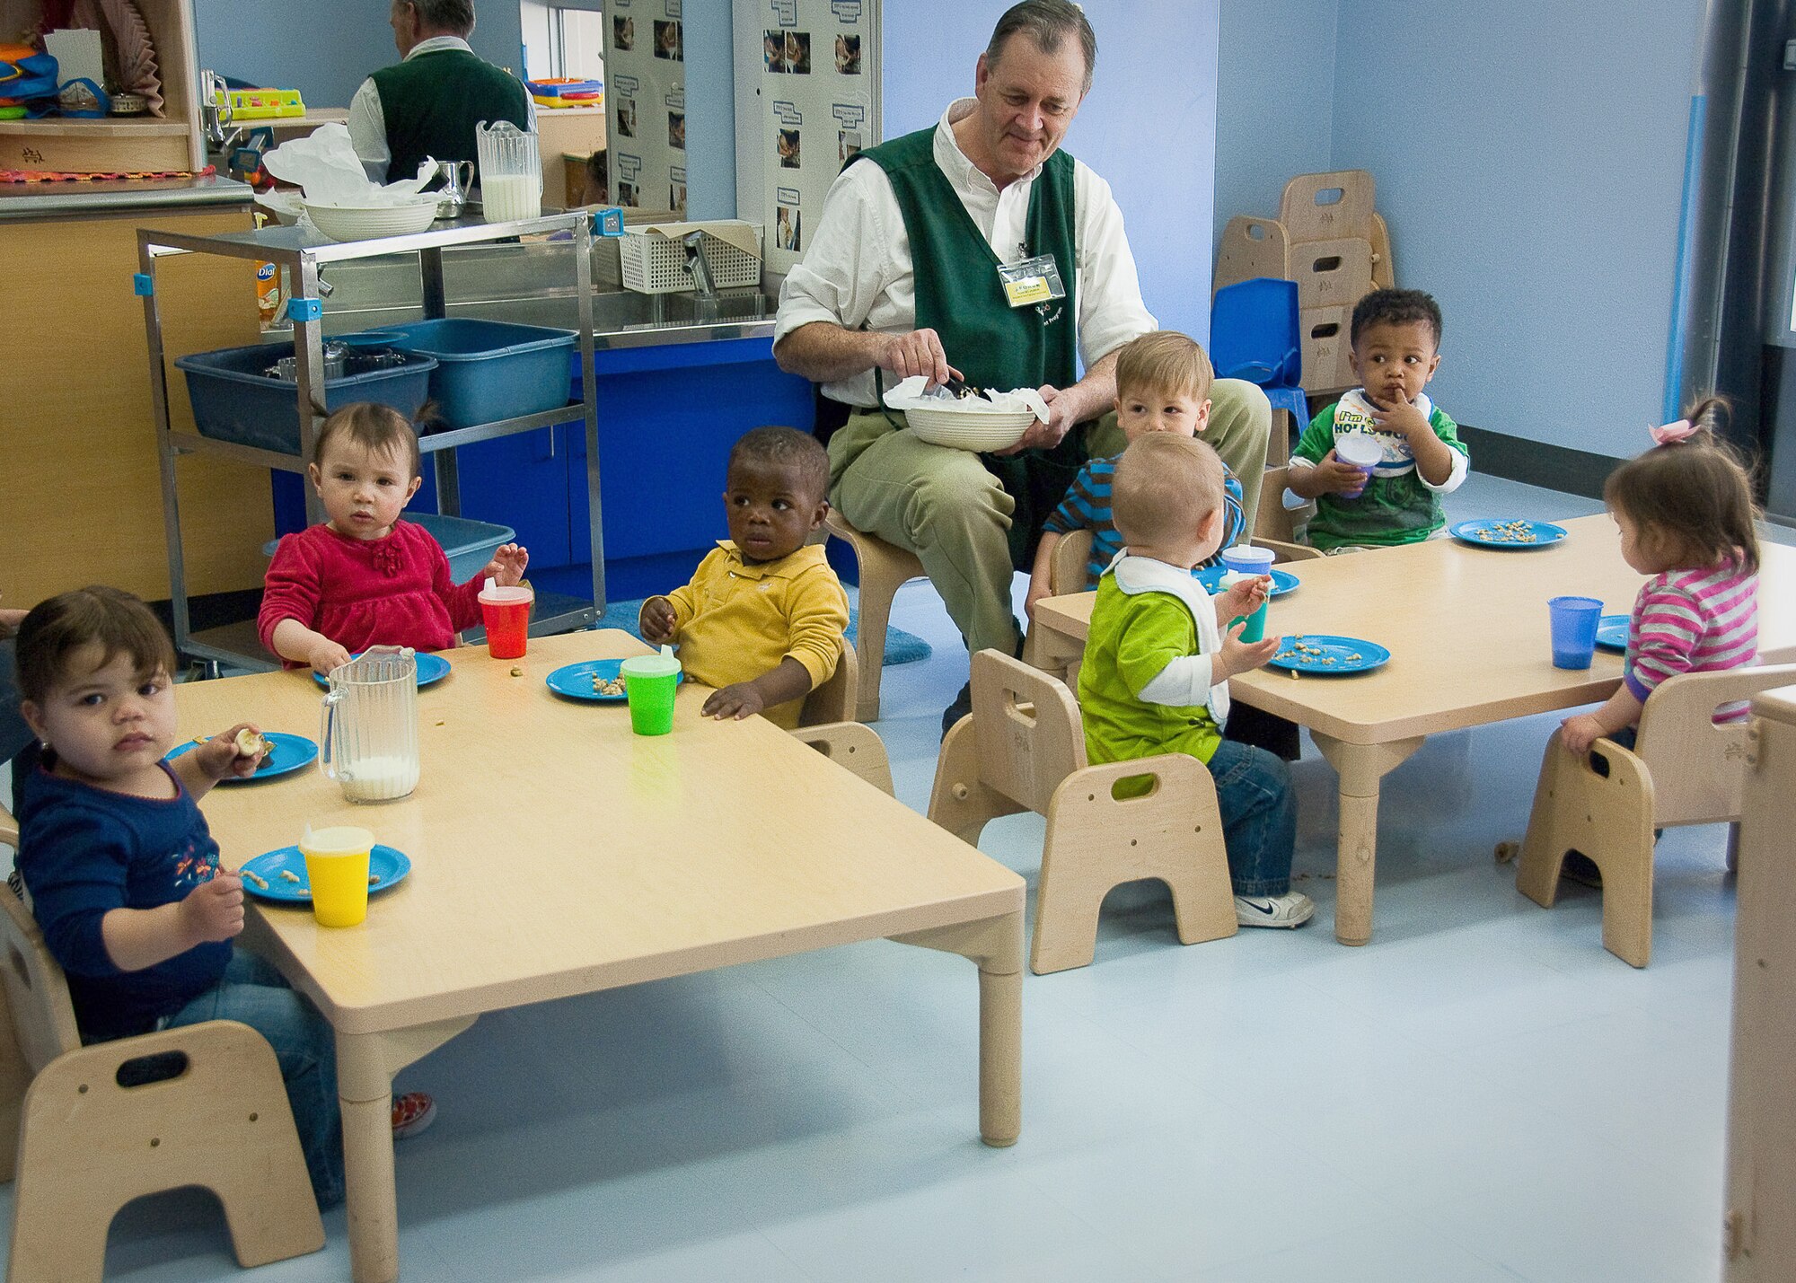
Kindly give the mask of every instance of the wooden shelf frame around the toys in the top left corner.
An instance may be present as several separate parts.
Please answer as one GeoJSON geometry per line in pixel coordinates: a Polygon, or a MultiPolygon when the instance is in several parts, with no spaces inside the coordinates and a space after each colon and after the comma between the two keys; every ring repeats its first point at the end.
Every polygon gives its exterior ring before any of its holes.
{"type": "MultiPolygon", "coordinates": [[[[205,169],[192,0],[136,0],[162,72],[162,117],[0,120],[0,169],[119,173],[205,169]]],[[[40,0],[0,0],[0,38],[43,16],[40,0]]]]}

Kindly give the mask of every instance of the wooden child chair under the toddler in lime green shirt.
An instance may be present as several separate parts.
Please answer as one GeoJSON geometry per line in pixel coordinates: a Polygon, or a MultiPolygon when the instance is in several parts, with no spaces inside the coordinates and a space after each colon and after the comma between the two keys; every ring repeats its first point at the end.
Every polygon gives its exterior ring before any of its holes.
{"type": "Polygon", "coordinates": [[[929,818],[966,843],[988,819],[1047,816],[1029,970],[1085,967],[1097,949],[1097,911],[1122,884],[1157,877],[1173,891],[1180,943],[1236,933],[1216,787],[1184,753],[1085,764],[1079,706],[1060,683],[997,650],[973,656],[973,712],[948,731],[936,762],[929,818]],[[1119,780],[1151,792],[1117,800],[1119,780]]]}

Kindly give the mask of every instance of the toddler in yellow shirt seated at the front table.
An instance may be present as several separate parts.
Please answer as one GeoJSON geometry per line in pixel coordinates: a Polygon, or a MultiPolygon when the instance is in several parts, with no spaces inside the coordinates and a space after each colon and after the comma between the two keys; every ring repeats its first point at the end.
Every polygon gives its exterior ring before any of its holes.
{"type": "Polygon", "coordinates": [[[691,582],[650,597],[638,631],[650,645],[679,643],[681,667],[717,686],[706,717],[765,713],[792,730],[805,695],[842,658],[848,595],[805,541],[830,510],[830,456],[815,437],[756,428],[729,451],[724,510],[729,539],[691,582]]]}

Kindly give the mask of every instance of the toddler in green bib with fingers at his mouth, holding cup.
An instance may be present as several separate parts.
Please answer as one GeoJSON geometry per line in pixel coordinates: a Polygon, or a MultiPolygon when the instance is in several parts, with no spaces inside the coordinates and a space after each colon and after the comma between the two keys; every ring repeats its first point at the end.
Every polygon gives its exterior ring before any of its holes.
{"type": "Polygon", "coordinates": [[[1422,392],[1440,368],[1440,307],[1421,289],[1374,289],[1352,311],[1351,341],[1363,386],[1291,451],[1288,485],[1316,501],[1304,537],[1331,553],[1431,539],[1446,526],[1440,496],[1469,469],[1458,426],[1422,392]],[[1378,447],[1370,476],[1342,458],[1347,437],[1378,447]]]}

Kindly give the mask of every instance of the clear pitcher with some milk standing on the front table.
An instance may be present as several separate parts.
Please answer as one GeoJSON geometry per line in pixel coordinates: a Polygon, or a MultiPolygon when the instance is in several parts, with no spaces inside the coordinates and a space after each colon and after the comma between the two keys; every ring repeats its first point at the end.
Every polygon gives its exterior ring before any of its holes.
{"type": "Polygon", "coordinates": [[[318,767],[350,801],[392,801],[418,787],[418,658],[377,645],[330,670],[318,767]]]}

